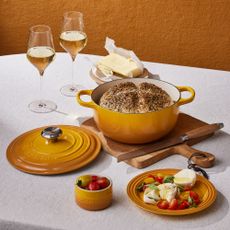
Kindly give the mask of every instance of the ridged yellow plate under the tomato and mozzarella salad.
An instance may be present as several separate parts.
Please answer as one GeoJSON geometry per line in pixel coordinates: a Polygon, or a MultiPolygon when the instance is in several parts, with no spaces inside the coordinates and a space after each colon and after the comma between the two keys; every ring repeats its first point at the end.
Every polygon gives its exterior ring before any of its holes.
{"type": "Polygon", "coordinates": [[[145,211],[155,213],[158,215],[170,215],[170,216],[179,216],[179,215],[189,215],[193,213],[200,212],[208,208],[216,200],[216,189],[213,184],[208,181],[203,176],[197,175],[196,184],[193,187],[193,191],[197,192],[201,203],[197,207],[183,209],[183,210],[165,210],[160,209],[156,205],[147,204],[143,201],[143,192],[137,191],[138,185],[140,185],[143,180],[149,174],[163,173],[165,175],[174,175],[180,171],[180,169],[157,169],[142,173],[134,177],[127,186],[127,194],[132,202],[134,202],[139,208],[144,209],[145,211]]]}

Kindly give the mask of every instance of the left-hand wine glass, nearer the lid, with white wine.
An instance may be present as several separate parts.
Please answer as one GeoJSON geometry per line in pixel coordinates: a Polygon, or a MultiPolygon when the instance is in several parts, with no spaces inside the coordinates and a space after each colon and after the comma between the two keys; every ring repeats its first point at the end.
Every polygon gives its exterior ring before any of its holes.
{"type": "Polygon", "coordinates": [[[46,25],[30,28],[27,58],[38,69],[40,74],[40,100],[31,102],[28,107],[36,113],[48,113],[56,110],[57,105],[42,98],[42,79],[46,67],[53,61],[55,50],[51,29],[46,25]]]}

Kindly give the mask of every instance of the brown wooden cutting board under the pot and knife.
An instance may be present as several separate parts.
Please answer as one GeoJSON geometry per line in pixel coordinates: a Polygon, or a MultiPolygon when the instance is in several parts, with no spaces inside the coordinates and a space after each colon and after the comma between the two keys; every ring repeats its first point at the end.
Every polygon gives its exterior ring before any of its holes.
{"type": "MultiPolygon", "coordinates": [[[[205,123],[201,120],[198,120],[192,116],[189,116],[187,114],[180,113],[176,127],[173,129],[173,131],[171,131],[171,133],[169,135],[164,137],[164,139],[170,138],[172,136],[179,136],[181,134],[184,134],[185,132],[199,128],[203,125],[207,125],[207,123],[205,123]]],[[[130,151],[133,151],[133,150],[136,150],[138,148],[145,146],[144,144],[142,144],[142,145],[123,144],[123,143],[113,141],[108,137],[105,137],[103,135],[103,133],[100,130],[98,130],[93,118],[90,118],[90,119],[84,121],[81,124],[81,126],[95,132],[99,136],[104,150],[107,151],[109,154],[111,154],[114,157],[117,157],[118,155],[120,155],[122,153],[127,153],[127,152],[130,152],[130,151]]],[[[201,151],[196,150],[194,148],[191,148],[190,146],[193,144],[199,143],[200,141],[202,141],[202,140],[204,140],[210,136],[211,135],[207,135],[207,136],[204,136],[201,138],[197,138],[197,139],[194,139],[194,140],[189,141],[187,143],[179,144],[179,145],[176,145],[173,147],[169,147],[169,148],[166,148],[164,150],[152,152],[150,154],[147,154],[147,155],[144,155],[141,157],[136,157],[136,158],[127,160],[125,162],[127,164],[135,167],[135,168],[144,168],[144,167],[152,165],[152,164],[156,163],[157,161],[162,160],[162,159],[164,159],[170,155],[174,155],[174,154],[179,154],[179,155],[182,155],[182,156],[189,158],[193,153],[196,153],[196,152],[201,153],[201,151]]],[[[154,143],[156,143],[156,142],[154,142],[154,143]]],[[[203,159],[201,157],[194,157],[193,158],[193,161],[201,167],[213,166],[214,160],[215,160],[215,158],[213,156],[203,158],[203,159]]]]}

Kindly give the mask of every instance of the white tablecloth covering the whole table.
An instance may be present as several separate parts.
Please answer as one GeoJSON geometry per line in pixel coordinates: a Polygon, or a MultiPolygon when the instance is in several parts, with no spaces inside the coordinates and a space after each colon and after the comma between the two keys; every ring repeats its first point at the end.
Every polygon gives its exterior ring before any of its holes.
{"type": "MultiPolygon", "coordinates": [[[[86,88],[96,83],[89,77],[91,64],[79,55],[76,81],[86,88]]],[[[99,57],[89,56],[93,61],[99,57]]],[[[8,144],[18,135],[51,124],[79,124],[92,115],[74,98],[64,97],[59,89],[71,80],[71,61],[58,53],[44,76],[44,98],[55,101],[58,112],[36,114],[27,108],[38,98],[37,70],[24,54],[0,57],[0,229],[229,229],[230,213],[230,72],[157,63],[144,63],[162,80],[175,85],[189,85],[196,90],[194,102],[181,107],[183,112],[206,122],[224,122],[225,127],[195,148],[216,155],[216,165],[208,169],[218,190],[215,204],[204,212],[183,217],[158,216],[140,210],[128,199],[126,185],[134,176],[157,168],[185,168],[182,156],[171,156],[148,168],[136,169],[102,152],[83,169],[59,176],[34,176],[13,168],[6,159],[8,144]],[[97,173],[113,180],[114,200],[103,211],[90,212],[74,201],[75,178],[97,173]]]]}

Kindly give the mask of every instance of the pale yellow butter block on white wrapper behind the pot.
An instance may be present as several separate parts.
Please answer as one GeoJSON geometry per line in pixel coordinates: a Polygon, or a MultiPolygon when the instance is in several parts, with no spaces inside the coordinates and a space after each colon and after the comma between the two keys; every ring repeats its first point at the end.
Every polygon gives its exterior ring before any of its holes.
{"type": "Polygon", "coordinates": [[[116,53],[110,53],[103,57],[97,64],[100,69],[111,69],[124,77],[137,77],[142,74],[135,61],[131,58],[125,58],[116,53]]]}

